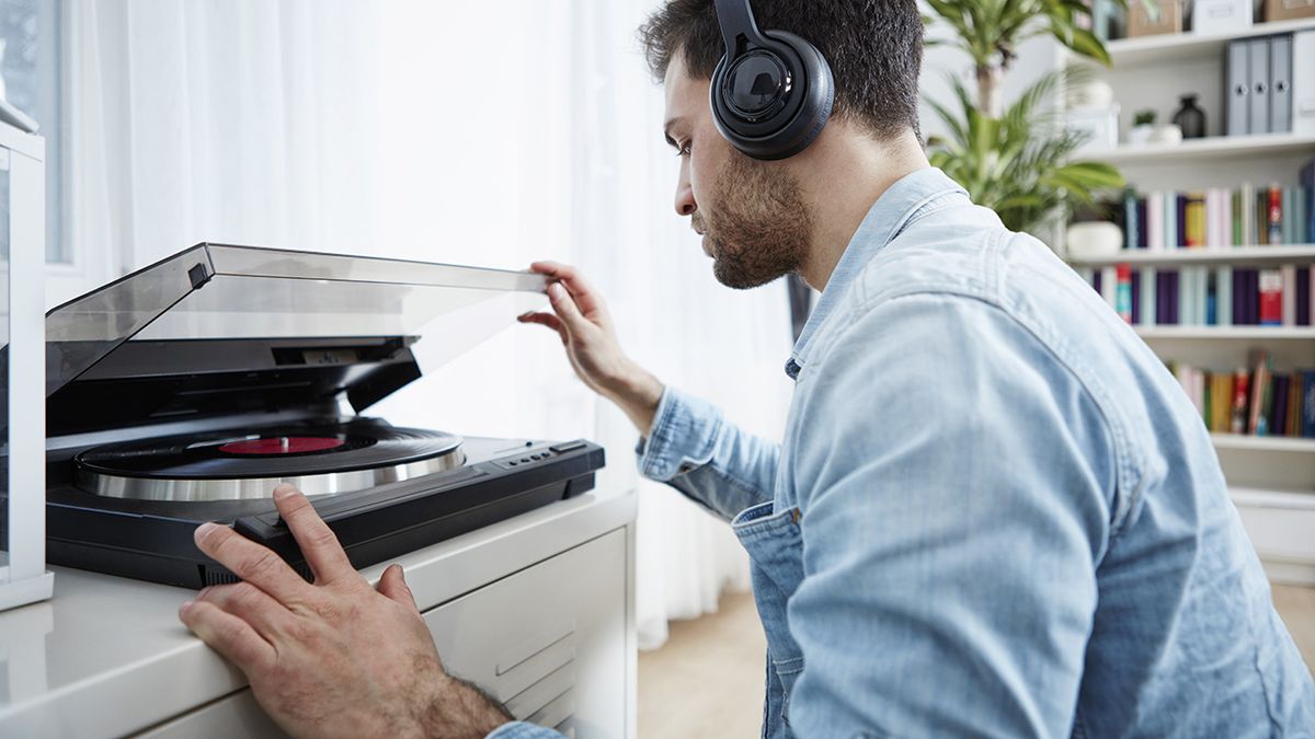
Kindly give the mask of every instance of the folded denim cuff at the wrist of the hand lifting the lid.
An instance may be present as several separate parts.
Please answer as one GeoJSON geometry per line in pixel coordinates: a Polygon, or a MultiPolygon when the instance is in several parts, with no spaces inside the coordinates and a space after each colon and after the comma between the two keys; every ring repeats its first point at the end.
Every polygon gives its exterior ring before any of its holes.
{"type": "Polygon", "coordinates": [[[707,401],[668,387],[647,439],[635,446],[639,473],[658,483],[707,464],[722,430],[722,413],[707,401]]]}

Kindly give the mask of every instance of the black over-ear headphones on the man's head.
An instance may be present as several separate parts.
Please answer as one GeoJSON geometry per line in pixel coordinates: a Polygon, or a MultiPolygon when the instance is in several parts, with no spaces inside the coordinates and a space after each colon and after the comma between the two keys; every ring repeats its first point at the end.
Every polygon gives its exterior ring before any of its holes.
{"type": "Polygon", "coordinates": [[[726,55],[713,71],[713,120],[753,159],[794,156],[813,143],[835,104],[831,67],[817,46],[760,32],[750,0],[715,0],[726,55]]]}

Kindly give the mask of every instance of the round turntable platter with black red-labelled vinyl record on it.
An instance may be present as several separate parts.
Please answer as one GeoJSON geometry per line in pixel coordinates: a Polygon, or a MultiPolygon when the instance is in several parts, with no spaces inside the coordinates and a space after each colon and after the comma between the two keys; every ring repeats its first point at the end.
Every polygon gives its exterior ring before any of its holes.
{"type": "Polygon", "coordinates": [[[363,490],[460,467],[460,437],[356,419],[107,444],[74,462],[88,493],[204,502],[268,498],[280,483],[310,496],[363,490]]]}

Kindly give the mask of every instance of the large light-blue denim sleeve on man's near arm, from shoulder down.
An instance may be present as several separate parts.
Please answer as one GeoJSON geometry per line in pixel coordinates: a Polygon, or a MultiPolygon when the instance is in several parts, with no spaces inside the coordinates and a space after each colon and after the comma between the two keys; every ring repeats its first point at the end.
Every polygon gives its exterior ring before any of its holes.
{"type": "Polygon", "coordinates": [[[797,418],[796,732],[1068,736],[1112,500],[1094,401],[969,298],[873,308],[823,363],[797,418]]]}

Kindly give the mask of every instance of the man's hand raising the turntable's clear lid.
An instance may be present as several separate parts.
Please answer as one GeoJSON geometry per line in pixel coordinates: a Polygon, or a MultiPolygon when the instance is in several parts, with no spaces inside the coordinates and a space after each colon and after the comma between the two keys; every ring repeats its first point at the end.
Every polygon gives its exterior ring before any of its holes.
{"type": "Polygon", "coordinates": [[[517,320],[556,331],[584,384],[617,404],[647,437],[658,414],[663,385],[621,351],[602,296],[594,293],[573,267],[535,262],[530,270],[554,280],[548,285],[552,313],[526,313],[517,320]]]}

